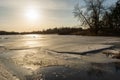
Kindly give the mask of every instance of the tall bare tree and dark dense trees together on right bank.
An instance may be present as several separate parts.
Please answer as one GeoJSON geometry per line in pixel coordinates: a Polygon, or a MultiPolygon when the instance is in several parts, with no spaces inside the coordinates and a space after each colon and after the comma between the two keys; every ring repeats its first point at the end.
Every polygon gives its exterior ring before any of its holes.
{"type": "Polygon", "coordinates": [[[83,0],[84,5],[75,5],[73,13],[95,35],[120,35],[120,0],[106,7],[109,0],[83,0]]]}

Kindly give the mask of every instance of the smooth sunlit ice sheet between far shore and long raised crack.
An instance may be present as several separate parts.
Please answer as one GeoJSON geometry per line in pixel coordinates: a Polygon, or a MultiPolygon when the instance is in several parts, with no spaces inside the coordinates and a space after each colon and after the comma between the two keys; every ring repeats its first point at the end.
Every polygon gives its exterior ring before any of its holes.
{"type": "Polygon", "coordinates": [[[88,51],[92,48],[102,48],[119,43],[120,38],[83,37],[59,35],[11,35],[0,37],[0,48],[19,50],[28,48],[45,48],[63,52],[88,51]],[[92,47],[91,47],[92,45],[92,47]],[[87,46],[87,47],[86,47],[87,46]],[[97,46],[97,47],[96,47],[97,46]],[[82,49],[81,49],[82,48],[82,49]],[[77,49],[77,50],[75,50],[77,49]]]}

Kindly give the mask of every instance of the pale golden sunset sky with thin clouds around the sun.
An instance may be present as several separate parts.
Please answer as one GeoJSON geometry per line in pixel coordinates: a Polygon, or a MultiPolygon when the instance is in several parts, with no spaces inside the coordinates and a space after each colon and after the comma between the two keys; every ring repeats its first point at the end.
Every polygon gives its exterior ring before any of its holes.
{"type": "MultiPolygon", "coordinates": [[[[81,0],[0,0],[0,30],[33,31],[79,24],[72,13],[81,0]]],[[[116,0],[108,0],[113,4],[116,0]]]]}

